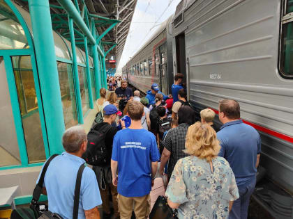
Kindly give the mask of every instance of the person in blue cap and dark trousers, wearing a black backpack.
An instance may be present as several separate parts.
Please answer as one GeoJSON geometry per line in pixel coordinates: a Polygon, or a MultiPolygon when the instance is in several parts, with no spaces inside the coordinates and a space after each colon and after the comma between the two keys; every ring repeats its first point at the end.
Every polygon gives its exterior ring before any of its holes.
{"type": "MultiPolygon", "coordinates": [[[[112,174],[111,174],[111,156],[112,156],[112,145],[115,134],[117,133],[117,129],[112,127],[112,123],[115,122],[117,115],[122,115],[120,111],[118,111],[117,107],[109,104],[103,109],[103,122],[96,124],[94,129],[105,133],[105,145],[107,148],[107,155],[109,159],[109,163],[107,165],[93,166],[93,171],[96,173],[96,177],[98,180],[98,186],[100,188],[100,196],[103,201],[103,218],[111,218],[110,211],[110,203],[109,203],[109,191],[112,194],[113,207],[114,207],[114,216],[115,218],[119,218],[118,212],[118,203],[117,203],[117,187],[112,185],[112,174]]],[[[123,129],[123,127],[122,127],[123,129]]]]}

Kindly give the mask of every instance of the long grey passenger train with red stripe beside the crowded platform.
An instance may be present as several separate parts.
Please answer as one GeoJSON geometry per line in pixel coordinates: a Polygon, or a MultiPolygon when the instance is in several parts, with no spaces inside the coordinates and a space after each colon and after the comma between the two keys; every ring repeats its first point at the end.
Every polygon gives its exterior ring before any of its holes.
{"type": "Polygon", "coordinates": [[[196,111],[238,101],[241,119],[262,138],[266,177],[258,185],[271,194],[253,200],[273,218],[293,216],[292,12],[292,0],[182,0],[122,70],[136,89],[158,83],[165,94],[174,74],[184,74],[196,111]]]}

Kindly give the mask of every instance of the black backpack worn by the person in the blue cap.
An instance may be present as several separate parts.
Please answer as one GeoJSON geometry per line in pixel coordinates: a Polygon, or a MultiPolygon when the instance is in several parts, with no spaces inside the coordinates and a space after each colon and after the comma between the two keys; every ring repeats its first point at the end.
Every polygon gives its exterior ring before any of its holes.
{"type": "Polygon", "coordinates": [[[109,163],[110,152],[106,147],[106,134],[112,126],[105,124],[96,129],[98,125],[96,124],[87,134],[87,151],[84,152],[82,158],[90,165],[104,166],[109,163]]]}

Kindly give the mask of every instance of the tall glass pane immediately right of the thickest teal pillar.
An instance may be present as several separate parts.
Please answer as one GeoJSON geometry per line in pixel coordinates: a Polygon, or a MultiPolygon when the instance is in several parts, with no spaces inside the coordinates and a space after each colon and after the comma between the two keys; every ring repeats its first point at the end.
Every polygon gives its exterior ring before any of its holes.
{"type": "Polygon", "coordinates": [[[75,126],[77,122],[77,109],[73,84],[72,65],[57,62],[59,85],[63,106],[63,116],[66,129],[75,126]]]}

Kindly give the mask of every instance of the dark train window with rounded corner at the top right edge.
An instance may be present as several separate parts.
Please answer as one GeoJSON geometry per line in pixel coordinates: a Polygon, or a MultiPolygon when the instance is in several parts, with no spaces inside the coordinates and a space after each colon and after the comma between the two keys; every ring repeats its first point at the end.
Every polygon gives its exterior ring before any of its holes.
{"type": "Polygon", "coordinates": [[[280,40],[280,74],[286,79],[293,79],[293,0],[287,0],[282,18],[280,40]]]}

